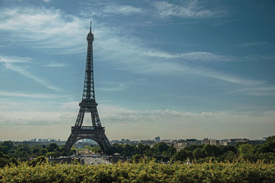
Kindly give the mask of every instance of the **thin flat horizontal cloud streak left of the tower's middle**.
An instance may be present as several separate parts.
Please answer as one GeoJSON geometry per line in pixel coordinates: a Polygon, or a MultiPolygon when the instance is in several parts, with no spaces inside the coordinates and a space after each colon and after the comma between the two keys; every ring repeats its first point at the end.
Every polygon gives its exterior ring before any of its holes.
{"type": "Polygon", "coordinates": [[[0,91],[0,96],[12,96],[23,98],[65,98],[68,96],[55,95],[55,94],[25,94],[20,92],[3,92],[0,91]]]}

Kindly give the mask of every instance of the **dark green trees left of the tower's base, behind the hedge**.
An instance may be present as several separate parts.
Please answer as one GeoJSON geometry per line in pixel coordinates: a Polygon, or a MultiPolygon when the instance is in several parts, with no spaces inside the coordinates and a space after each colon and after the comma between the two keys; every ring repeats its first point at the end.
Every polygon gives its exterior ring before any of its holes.
{"type": "Polygon", "coordinates": [[[46,145],[28,145],[18,144],[14,145],[11,141],[0,143],[0,167],[5,164],[15,163],[18,161],[30,160],[30,158],[42,157],[58,157],[67,155],[63,146],[58,147],[56,143],[46,145]]]}

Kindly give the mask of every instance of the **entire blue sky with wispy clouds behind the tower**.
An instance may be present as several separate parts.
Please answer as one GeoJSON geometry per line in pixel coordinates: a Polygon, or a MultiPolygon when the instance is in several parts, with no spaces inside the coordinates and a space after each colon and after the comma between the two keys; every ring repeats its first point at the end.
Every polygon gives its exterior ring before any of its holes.
{"type": "Polygon", "coordinates": [[[274,135],[274,8],[0,0],[0,139],[67,139],[83,92],[89,21],[110,140],[274,135]]]}

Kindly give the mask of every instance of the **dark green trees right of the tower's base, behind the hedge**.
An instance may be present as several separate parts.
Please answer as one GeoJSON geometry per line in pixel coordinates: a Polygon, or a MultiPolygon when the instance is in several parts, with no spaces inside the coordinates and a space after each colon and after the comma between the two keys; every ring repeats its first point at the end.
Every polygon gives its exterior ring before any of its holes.
{"type": "Polygon", "coordinates": [[[232,162],[236,158],[244,158],[250,162],[263,160],[264,162],[275,161],[275,136],[267,138],[264,144],[250,145],[246,142],[239,142],[235,146],[215,146],[210,144],[190,145],[176,151],[175,147],[168,146],[164,142],[154,144],[149,147],[144,144],[113,144],[108,149],[107,154],[120,153],[123,156],[131,156],[134,160],[140,158],[155,158],[159,161],[167,162],[171,159],[175,161],[208,162],[209,160],[217,160],[218,162],[232,162]]]}

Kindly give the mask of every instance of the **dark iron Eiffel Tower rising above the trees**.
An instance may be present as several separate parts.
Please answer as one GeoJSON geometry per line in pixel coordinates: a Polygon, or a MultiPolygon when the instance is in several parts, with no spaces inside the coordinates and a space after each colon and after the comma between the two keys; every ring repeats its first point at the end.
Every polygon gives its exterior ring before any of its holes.
{"type": "Polygon", "coordinates": [[[80,109],[78,117],[76,118],[76,124],[72,127],[72,133],[69,136],[65,149],[70,151],[73,144],[81,139],[91,139],[96,141],[100,149],[104,152],[111,147],[111,144],[105,135],[105,129],[101,126],[100,118],[98,116],[98,103],[96,103],[96,97],[94,94],[94,61],[93,61],[93,41],[94,34],[90,32],[87,35],[88,48],[87,48],[87,61],[85,71],[85,81],[83,87],[82,101],[79,103],[80,109]],[[92,126],[83,126],[83,118],[86,112],[91,113],[92,126]]]}

